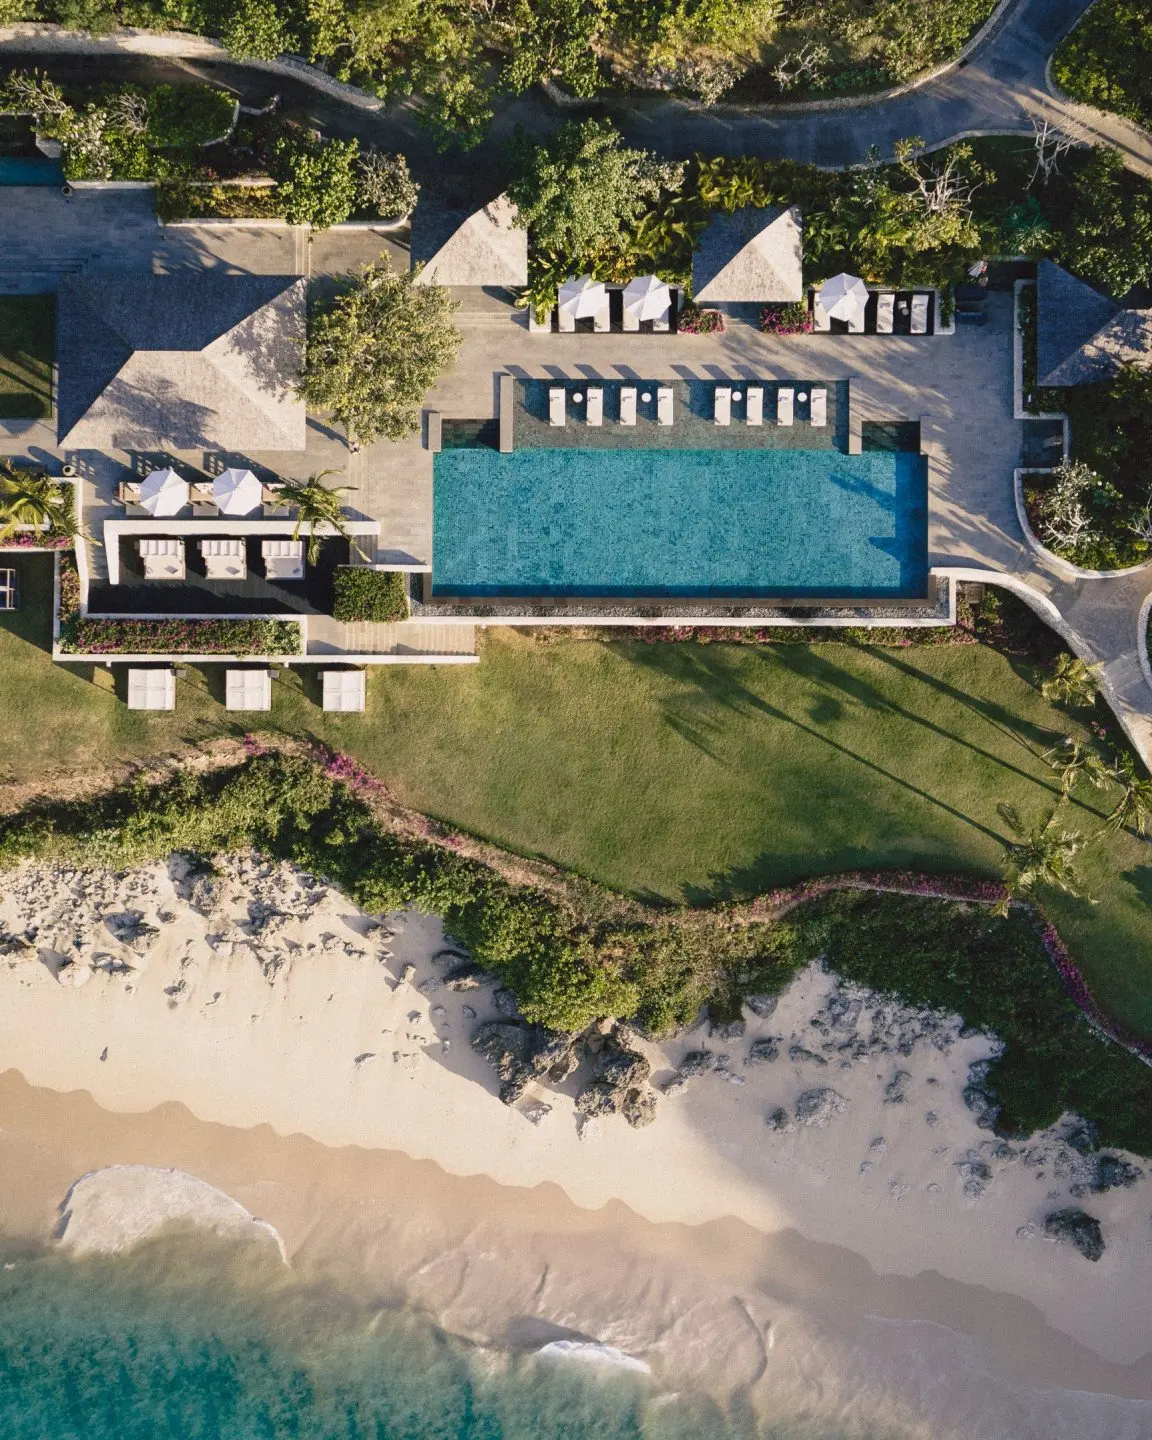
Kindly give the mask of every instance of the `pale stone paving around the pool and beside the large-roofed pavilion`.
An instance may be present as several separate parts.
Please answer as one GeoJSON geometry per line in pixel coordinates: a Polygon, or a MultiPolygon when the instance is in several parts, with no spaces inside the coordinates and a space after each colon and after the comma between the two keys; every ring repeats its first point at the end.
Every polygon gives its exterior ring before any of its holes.
{"type": "MultiPolygon", "coordinates": [[[[117,192],[78,196],[62,210],[50,189],[9,192],[14,228],[0,287],[49,289],[60,272],[115,264],[148,269],[220,265],[265,274],[338,274],[382,251],[379,230],[327,232],[310,239],[289,226],[168,229],[157,226],[147,197],[117,192]],[[50,212],[50,213],[49,213],[50,212]],[[147,212],[147,213],[145,213],[147,212]],[[45,246],[43,236],[52,236],[45,246]]],[[[395,256],[397,261],[400,255],[395,256]]],[[[1152,564],[1104,579],[1077,577],[1030,549],[1015,513],[1012,471],[1021,462],[1021,422],[1012,416],[1012,297],[994,292],[985,327],[955,336],[762,336],[734,321],[721,336],[530,334],[523,311],[504,294],[458,289],[464,334],[455,369],[428,397],[445,418],[497,415],[500,376],[527,380],[850,382],[850,448],[864,420],[919,420],[929,456],[929,562],[937,573],[1008,586],[1044,613],[1068,645],[1103,664],[1106,694],[1146,760],[1152,762],[1152,685],[1138,638],[1152,592],[1152,564]]],[[[831,419],[831,416],[829,416],[831,419]]],[[[0,426],[0,452],[69,459],[84,481],[84,516],[99,534],[115,514],[115,484],[150,468],[130,454],[69,454],[40,422],[0,426]]],[[[203,455],[176,456],[203,468],[203,455]]],[[[213,456],[219,464],[219,456],[213,456]]],[[[431,563],[432,455],[419,436],[382,442],[350,455],[323,422],[308,425],[298,454],[230,456],[284,475],[336,468],[354,485],[353,511],[380,524],[377,560],[431,563]]],[[[92,552],[96,572],[104,563],[92,552]]],[[[95,575],[99,580],[99,573],[95,575]]],[[[431,632],[431,626],[429,626],[431,632]]]]}

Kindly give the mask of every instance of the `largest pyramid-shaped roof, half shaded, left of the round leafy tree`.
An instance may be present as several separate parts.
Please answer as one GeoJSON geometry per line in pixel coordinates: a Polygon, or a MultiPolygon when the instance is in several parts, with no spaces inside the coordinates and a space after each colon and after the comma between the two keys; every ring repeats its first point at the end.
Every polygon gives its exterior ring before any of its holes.
{"type": "Polygon", "coordinates": [[[60,282],[58,436],[72,449],[304,449],[295,275],[92,274],[60,282]]]}

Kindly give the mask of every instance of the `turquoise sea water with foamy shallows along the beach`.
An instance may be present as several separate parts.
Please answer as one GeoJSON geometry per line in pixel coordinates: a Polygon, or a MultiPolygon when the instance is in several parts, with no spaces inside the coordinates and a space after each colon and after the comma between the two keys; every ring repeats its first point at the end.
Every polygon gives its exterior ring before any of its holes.
{"type": "Polygon", "coordinates": [[[739,1398],[721,1411],[647,1377],[478,1351],[379,1297],[304,1283],[268,1247],[199,1240],[0,1272],[0,1436],[835,1440],[765,1431],[739,1398]]]}

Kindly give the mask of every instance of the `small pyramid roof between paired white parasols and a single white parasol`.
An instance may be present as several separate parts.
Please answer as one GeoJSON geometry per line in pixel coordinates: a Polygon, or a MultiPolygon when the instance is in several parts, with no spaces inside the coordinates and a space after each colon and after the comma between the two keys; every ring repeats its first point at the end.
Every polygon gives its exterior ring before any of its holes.
{"type": "Polygon", "coordinates": [[[693,256],[693,298],[700,304],[802,300],[799,210],[768,206],[714,215],[693,256]]]}

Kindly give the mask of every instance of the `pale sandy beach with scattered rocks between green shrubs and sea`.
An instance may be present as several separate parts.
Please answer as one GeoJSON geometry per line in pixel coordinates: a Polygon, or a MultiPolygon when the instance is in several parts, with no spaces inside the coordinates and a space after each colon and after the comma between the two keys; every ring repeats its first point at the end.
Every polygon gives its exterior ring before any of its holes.
{"type": "Polygon", "coordinates": [[[657,1384],[739,1392],[766,1418],[1152,1431],[1152,1181],[1086,1192],[1094,1161],[1060,1135],[981,1129],[963,1090],[985,1037],[814,965],[743,1034],[639,1043],[657,1100],[634,1129],[576,1115],[580,1074],[500,1102],[469,1044],[500,996],[444,984],[426,917],[364,916],[243,857],[215,876],[6,878],[12,1244],[55,1236],[96,1172],[69,1220],[85,1246],[202,1202],[243,1224],[226,1197],[301,1274],[370,1284],[477,1344],[612,1345],[657,1384]],[[168,1168],[220,1198],[166,1188],[168,1168]],[[1100,1221],[1099,1261],[1044,1237],[1067,1205],[1100,1221]]]}

